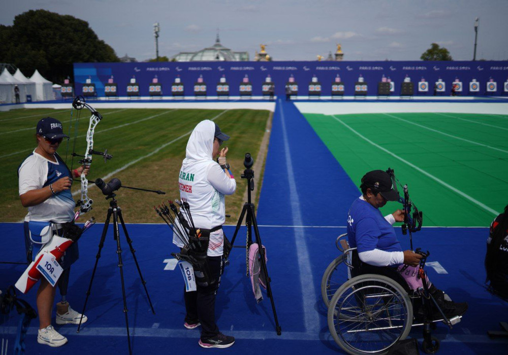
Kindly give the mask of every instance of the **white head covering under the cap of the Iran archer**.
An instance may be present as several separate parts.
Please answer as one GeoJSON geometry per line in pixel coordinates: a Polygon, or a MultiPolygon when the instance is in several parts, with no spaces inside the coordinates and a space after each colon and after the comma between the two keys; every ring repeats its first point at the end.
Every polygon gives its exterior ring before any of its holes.
{"type": "Polygon", "coordinates": [[[213,161],[212,149],[214,134],[215,123],[210,120],[204,120],[198,123],[190,134],[187,148],[185,149],[183,166],[198,161],[213,161]]]}

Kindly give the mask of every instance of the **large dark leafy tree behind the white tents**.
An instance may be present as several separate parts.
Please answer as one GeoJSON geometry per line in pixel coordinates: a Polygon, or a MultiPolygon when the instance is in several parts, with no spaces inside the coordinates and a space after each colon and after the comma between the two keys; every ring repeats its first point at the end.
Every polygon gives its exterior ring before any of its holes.
{"type": "Polygon", "coordinates": [[[74,16],[30,10],[17,15],[12,26],[0,25],[0,62],[15,64],[27,76],[38,69],[61,83],[74,77],[75,62],[116,61],[113,48],[74,16]]]}

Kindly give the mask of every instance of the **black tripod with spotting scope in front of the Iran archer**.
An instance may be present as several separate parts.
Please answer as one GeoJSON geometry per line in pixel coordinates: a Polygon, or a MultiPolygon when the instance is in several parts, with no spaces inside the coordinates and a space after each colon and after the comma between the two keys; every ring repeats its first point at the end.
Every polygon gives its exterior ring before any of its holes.
{"type": "MultiPolygon", "coordinates": [[[[254,160],[250,157],[250,154],[245,154],[245,161],[243,162],[243,165],[245,166],[245,170],[243,170],[243,174],[241,175],[242,179],[247,180],[247,202],[243,205],[242,212],[240,214],[240,218],[238,219],[238,223],[236,225],[235,233],[233,234],[233,238],[231,239],[231,246],[235,243],[236,235],[238,234],[238,231],[240,230],[240,227],[243,222],[243,218],[245,217],[245,224],[247,225],[247,241],[245,247],[248,248],[253,243],[252,241],[252,228],[254,229],[255,234],[255,242],[259,244],[259,252],[260,252],[260,262],[261,262],[261,272],[266,275],[266,293],[268,297],[270,298],[270,302],[272,304],[272,311],[273,311],[273,317],[275,319],[275,331],[277,332],[277,335],[281,334],[281,328],[279,326],[279,321],[277,319],[277,312],[275,310],[275,303],[273,302],[273,295],[272,295],[272,287],[270,286],[271,279],[268,276],[268,269],[266,267],[266,260],[265,260],[265,250],[263,248],[263,244],[261,242],[261,236],[258,229],[258,221],[256,220],[256,207],[252,203],[251,200],[251,191],[254,190],[254,170],[251,169],[252,165],[254,163],[254,160]]],[[[243,246],[239,246],[243,247],[243,246]]]]}

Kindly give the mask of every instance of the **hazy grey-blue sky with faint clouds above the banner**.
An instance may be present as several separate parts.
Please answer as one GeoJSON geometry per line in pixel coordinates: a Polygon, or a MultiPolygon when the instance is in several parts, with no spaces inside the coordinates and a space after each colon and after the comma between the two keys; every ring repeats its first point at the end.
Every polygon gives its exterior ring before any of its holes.
{"type": "Polygon", "coordinates": [[[221,43],[247,51],[260,44],[274,60],[316,60],[341,44],[344,60],[419,60],[431,43],[455,60],[508,60],[508,0],[18,0],[4,3],[0,24],[28,10],[78,17],[116,51],[139,61],[221,43]]]}

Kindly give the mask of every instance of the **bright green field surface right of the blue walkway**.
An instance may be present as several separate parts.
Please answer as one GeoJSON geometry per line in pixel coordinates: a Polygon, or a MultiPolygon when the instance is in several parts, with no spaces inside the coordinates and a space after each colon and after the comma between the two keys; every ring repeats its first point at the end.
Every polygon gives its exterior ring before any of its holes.
{"type": "Polygon", "coordinates": [[[393,168],[425,226],[488,226],[508,203],[508,116],[305,117],[358,185],[368,170],[393,168]]]}

